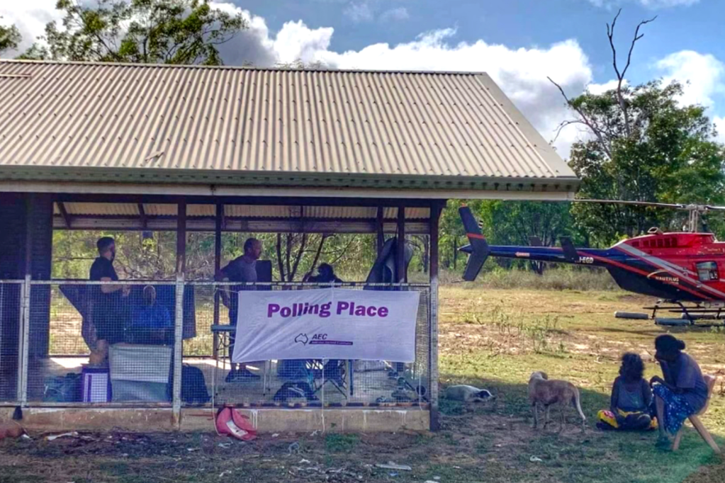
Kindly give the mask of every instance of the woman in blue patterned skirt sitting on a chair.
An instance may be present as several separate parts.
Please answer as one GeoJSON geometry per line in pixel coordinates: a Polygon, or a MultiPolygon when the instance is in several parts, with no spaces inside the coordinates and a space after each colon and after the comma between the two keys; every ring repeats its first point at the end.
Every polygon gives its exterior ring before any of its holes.
{"type": "Polygon", "coordinates": [[[700,366],[689,354],[682,340],[664,334],[655,339],[655,359],[662,368],[662,377],[650,379],[655,394],[657,419],[660,421],[659,448],[670,448],[668,434],[674,435],[682,428],[684,420],[705,406],[708,385],[700,366]]]}

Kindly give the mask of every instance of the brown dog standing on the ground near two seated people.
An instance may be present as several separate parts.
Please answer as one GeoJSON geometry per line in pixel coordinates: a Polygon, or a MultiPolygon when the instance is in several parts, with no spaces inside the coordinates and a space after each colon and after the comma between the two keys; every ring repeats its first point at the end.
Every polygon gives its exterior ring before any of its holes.
{"type": "Polygon", "coordinates": [[[571,404],[571,406],[576,408],[576,411],[579,411],[579,416],[581,416],[581,431],[584,432],[587,418],[584,416],[584,412],[581,411],[579,390],[571,382],[550,381],[545,372],[534,372],[529,379],[529,403],[531,403],[531,411],[534,411],[534,429],[537,429],[539,426],[539,404],[544,406],[545,410],[544,429],[549,424],[550,406],[554,404],[561,406],[561,427],[559,432],[564,429],[564,424],[566,423],[564,409],[571,404]]]}

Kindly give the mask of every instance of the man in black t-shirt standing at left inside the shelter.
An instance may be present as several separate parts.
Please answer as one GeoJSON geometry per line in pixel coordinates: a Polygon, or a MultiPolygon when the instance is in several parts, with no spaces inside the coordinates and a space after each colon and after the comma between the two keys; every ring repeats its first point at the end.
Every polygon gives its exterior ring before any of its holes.
{"type": "MultiPolygon", "coordinates": [[[[96,242],[99,257],[91,265],[90,280],[95,282],[116,282],[118,275],[113,268],[116,257],[115,240],[99,238],[96,242]]],[[[93,285],[93,321],[96,327],[96,350],[105,360],[108,345],[123,342],[125,303],[123,298],[130,293],[130,285],[93,285]]]]}

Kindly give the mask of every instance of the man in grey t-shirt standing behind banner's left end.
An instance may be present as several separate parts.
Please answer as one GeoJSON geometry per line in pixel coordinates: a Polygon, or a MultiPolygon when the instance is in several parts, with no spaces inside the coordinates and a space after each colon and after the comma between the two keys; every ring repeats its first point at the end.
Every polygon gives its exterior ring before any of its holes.
{"type": "MultiPolygon", "coordinates": [[[[244,255],[233,259],[221,269],[218,280],[241,283],[257,282],[257,260],[261,254],[262,242],[256,238],[247,238],[247,241],[244,242],[244,255]]],[[[236,326],[237,314],[239,314],[239,296],[237,295],[239,290],[255,290],[256,288],[254,285],[232,285],[231,287],[227,285],[224,287],[225,290],[221,290],[222,301],[229,308],[229,324],[236,326]]],[[[231,334],[229,339],[231,357],[234,353],[234,335],[231,334]]],[[[241,364],[239,368],[236,367],[236,364],[232,364],[226,381],[231,382],[234,379],[259,379],[259,376],[249,371],[244,364],[241,364]]]]}

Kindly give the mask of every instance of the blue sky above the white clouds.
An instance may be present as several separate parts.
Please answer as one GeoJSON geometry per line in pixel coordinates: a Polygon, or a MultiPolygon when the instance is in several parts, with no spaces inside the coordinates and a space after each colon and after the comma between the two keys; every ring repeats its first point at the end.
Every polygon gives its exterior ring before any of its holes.
{"type": "MultiPolygon", "coordinates": [[[[457,28],[455,41],[502,43],[511,48],[548,46],[576,38],[593,64],[599,67],[596,80],[610,77],[610,50],[605,24],[611,22],[616,6],[623,7],[618,20],[618,41],[624,48],[639,20],[658,16],[645,28],[646,40],[637,46],[642,61],[660,59],[674,51],[694,50],[725,59],[722,35],[725,2],[700,0],[661,1],[645,7],[639,1],[605,2],[597,7],[589,0],[251,0],[235,2],[264,17],[271,30],[279,30],[289,20],[302,20],[310,28],[333,27],[330,48],[335,51],[359,50],[371,43],[405,43],[420,33],[457,28]],[[677,3],[681,3],[677,5],[677,3]],[[657,5],[675,4],[663,8],[657,5]],[[357,16],[351,6],[366,5],[372,18],[357,16]],[[384,12],[405,9],[407,18],[396,22],[381,19],[384,12]],[[695,35],[696,33],[696,35],[695,35]]],[[[365,9],[363,9],[365,10],[365,9]]],[[[357,9],[360,12],[360,9],[357,9]]],[[[642,72],[647,75],[647,72],[642,72]]]]}

